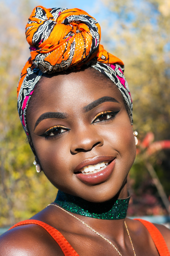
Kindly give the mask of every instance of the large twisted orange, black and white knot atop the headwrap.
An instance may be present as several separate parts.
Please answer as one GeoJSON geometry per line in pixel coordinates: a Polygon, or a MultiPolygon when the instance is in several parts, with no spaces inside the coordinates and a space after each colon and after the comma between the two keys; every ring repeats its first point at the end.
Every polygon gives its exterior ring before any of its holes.
{"type": "Polygon", "coordinates": [[[26,26],[31,59],[43,73],[80,68],[99,49],[100,25],[80,9],[36,7],[26,26]]]}

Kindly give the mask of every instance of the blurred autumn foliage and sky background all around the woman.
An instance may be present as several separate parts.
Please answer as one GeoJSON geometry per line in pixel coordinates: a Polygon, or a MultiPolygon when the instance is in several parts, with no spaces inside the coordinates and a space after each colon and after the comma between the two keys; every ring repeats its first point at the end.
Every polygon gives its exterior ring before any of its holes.
{"type": "Polygon", "coordinates": [[[30,218],[56,196],[43,172],[35,171],[17,113],[17,83],[30,56],[24,28],[37,5],[85,10],[101,25],[101,43],[124,61],[139,139],[128,215],[169,215],[170,1],[1,0],[0,226],[30,218]]]}

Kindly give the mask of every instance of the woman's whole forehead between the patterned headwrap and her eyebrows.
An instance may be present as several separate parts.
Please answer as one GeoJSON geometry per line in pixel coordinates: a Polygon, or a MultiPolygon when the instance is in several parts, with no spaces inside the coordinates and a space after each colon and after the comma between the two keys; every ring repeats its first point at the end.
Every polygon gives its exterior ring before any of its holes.
{"type": "Polygon", "coordinates": [[[111,96],[123,102],[117,86],[93,68],[68,74],[44,75],[32,95],[27,119],[30,114],[38,116],[43,112],[70,112],[82,109],[103,96],[111,96]]]}

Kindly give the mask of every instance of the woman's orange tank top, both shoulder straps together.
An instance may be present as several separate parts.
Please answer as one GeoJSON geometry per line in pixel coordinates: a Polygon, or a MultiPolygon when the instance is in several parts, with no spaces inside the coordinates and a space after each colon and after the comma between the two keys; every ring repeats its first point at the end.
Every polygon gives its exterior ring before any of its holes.
{"type": "MultiPolygon", "coordinates": [[[[160,231],[152,223],[148,221],[144,221],[143,219],[136,219],[136,220],[140,221],[148,229],[159,255],[170,256],[170,252],[168,250],[166,242],[162,234],[160,233],[160,231]]],[[[44,222],[37,221],[36,219],[28,219],[26,221],[21,221],[15,224],[10,229],[20,225],[24,225],[24,224],[37,224],[43,227],[51,235],[51,237],[57,242],[57,244],[60,246],[65,256],[79,256],[79,254],[73,249],[73,247],[69,244],[69,242],[57,229],[51,227],[50,225],[44,222]]]]}

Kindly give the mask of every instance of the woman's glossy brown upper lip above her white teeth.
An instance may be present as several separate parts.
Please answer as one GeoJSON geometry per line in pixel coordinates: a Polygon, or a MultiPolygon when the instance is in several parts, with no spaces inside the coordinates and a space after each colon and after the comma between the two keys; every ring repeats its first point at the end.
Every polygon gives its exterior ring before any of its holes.
{"type": "Polygon", "coordinates": [[[74,169],[74,172],[78,172],[88,165],[97,165],[97,163],[112,161],[114,158],[115,157],[113,156],[95,156],[93,158],[85,159],[74,169]]]}

